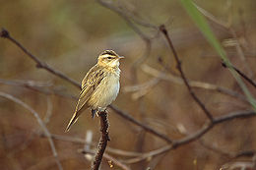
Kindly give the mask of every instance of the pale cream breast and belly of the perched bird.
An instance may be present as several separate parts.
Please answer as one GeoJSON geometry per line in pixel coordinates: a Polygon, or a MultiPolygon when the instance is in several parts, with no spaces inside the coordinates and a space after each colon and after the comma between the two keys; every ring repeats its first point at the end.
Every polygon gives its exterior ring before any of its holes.
{"type": "Polygon", "coordinates": [[[89,106],[91,106],[92,109],[103,111],[113,100],[115,100],[119,88],[119,77],[112,75],[107,79],[103,79],[89,99],[89,106]]]}

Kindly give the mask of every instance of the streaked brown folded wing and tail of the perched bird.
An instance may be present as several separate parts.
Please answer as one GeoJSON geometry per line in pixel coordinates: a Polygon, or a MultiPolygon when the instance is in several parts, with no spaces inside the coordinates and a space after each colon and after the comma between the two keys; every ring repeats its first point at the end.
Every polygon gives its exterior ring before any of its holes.
{"type": "Polygon", "coordinates": [[[77,121],[79,115],[88,108],[87,101],[94,93],[96,86],[105,78],[103,70],[99,66],[94,66],[86,75],[82,81],[82,90],[79,95],[79,100],[76,106],[75,113],[73,114],[66,132],[69,131],[70,127],[77,121]]]}

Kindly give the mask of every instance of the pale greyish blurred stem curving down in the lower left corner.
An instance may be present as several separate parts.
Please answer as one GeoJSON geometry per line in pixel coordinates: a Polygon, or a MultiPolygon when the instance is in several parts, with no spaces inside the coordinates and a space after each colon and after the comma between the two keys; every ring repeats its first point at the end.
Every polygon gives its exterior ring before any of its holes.
{"type": "Polygon", "coordinates": [[[28,104],[26,104],[25,102],[23,102],[22,100],[10,95],[10,94],[7,94],[7,93],[4,93],[4,92],[0,92],[0,96],[4,97],[4,98],[7,98],[17,104],[20,104],[21,106],[23,106],[24,108],[26,108],[27,110],[29,110],[32,115],[35,117],[36,121],[38,122],[38,124],[40,125],[43,133],[45,134],[45,136],[47,137],[47,140],[48,142],[50,143],[50,147],[51,147],[51,150],[52,150],[52,153],[53,153],[53,156],[55,158],[55,161],[56,161],[56,164],[58,166],[58,169],[59,170],[63,170],[62,168],[62,165],[60,163],[60,160],[59,160],[59,157],[58,157],[58,153],[56,151],[56,148],[55,148],[55,145],[54,145],[54,142],[52,141],[51,139],[51,136],[50,136],[50,133],[48,131],[48,129],[45,127],[43,121],[40,119],[39,115],[37,112],[35,112],[31,106],[29,106],[28,104]]]}

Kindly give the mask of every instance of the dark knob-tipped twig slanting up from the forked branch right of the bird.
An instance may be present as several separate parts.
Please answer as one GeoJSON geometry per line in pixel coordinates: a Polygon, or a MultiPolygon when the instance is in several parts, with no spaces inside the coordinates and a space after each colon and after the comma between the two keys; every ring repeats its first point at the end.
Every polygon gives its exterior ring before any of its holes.
{"type": "Polygon", "coordinates": [[[206,108],[206,106],[201,102],[201,100],[196,96],[196,94],[194,93],[194,91],[192,90],[191,86],[188,84],[188,81],[185,77],[185,74],[181,68],[181,62],[179,60],[179,57],[177,55],[177,52],[170,40],[170,37],[168,35],[168,31],[166,30],[166,28],[164,27],[164,25],[161,25],[160,26],[160,31],[162,32],[162,34],[164,35],[164,37],[166,38],[167,42],[168,42],[168,45],[173,53],[173,56],[175,58],[175,61],[176,61],[176,67],[180,73],[180,76],[182,78],[182,80],[184,81],[184,84],[187,86],[188,88],[188,91],[190,93],[190,95],[194,98],[194,100],[196,101],[196,103],[201,107],[201,109],[205,112],[206,116],[211,120],[213,121],[213,116],[212,114],[209,112],[209,110],[206,108]]]}

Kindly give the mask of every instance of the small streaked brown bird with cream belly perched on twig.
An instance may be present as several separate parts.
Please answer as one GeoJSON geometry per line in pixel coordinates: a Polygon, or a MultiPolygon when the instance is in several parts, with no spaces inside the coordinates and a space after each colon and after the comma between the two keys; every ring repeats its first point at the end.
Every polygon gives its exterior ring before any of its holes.
{"type": "Polygon", "coordinates": [[[122,58],[113,50],[104,50],[99,54],[96,65],[82,81],[79,100],[65,132],[70,130],[85,109],[91,108],[94,118],[115,100],[120,88],[119,60],[122,58]]]}

